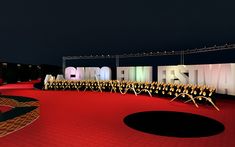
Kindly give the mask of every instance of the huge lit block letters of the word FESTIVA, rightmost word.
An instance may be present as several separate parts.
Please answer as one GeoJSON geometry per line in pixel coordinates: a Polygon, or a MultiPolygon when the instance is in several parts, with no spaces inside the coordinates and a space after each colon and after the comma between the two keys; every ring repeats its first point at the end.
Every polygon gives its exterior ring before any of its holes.
{"type": "Polygon", "coordinates": [[[235,95],[235,64],[159,66],[158,81],[208,85],[217,93],[235,95]]]}

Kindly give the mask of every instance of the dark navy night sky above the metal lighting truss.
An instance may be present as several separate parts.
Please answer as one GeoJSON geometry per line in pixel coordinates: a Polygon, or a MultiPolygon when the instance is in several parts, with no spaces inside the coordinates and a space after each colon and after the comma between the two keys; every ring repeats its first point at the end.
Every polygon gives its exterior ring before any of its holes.
{"type": "Polygon", "coordinates": [[[0,59],[61,65],[62,56],[235,43],[234,0],[5,0],[0,59]]]}

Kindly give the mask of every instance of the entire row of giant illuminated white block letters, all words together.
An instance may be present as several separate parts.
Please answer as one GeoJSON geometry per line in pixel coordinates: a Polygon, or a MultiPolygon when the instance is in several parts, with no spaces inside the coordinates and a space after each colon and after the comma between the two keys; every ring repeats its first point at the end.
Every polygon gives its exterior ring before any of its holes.
{"type": "MultiPolygon", "coordinates": [[[[47,75],[45,82],[51,81],[47,75]]],[[[67,67],[66,80],[111,80],[109,67],[67,67]]],[[[63,76],[57,76],[63,80],[63,76]]],[[[117,80],[152,82],[152,66],[117,67],[117,80]]],[[[235,95],[235,63],[158,66],[158,82],[207,85],[217,93],[235,95]]]]}

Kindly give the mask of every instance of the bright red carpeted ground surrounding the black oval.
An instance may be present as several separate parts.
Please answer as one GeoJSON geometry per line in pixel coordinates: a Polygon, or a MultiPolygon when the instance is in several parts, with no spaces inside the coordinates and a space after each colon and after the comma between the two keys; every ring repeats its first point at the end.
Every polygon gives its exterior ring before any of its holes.
{"type": "Polygon", "coordinates": [[[24,129],[0,138],[0,146],[235,146],[235,100],[218,100],[221,109],[218,112],[212,106],[200,105],[198,109],[192,104],[131,94],[1,88],[0,92],[33,97],[41,104],[40,118],[24,129]],[[157,110],[208,116],[222,122],[225,131],[210,137],[176,138],[139,132],[123,123],[123,118],[131,113],[157,110]]]}

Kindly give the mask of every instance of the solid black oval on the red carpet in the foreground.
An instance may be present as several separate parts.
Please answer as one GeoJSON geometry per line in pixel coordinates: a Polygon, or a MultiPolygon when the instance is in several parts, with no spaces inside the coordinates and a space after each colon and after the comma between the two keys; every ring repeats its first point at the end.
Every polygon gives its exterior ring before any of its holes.
{"type": "Polygon", "coordinates": [[[214,119],[185,112],[146,111],[130,114],[124,123],[138,131],[170,137],[206,137],[224,131],[214,119]]]}

